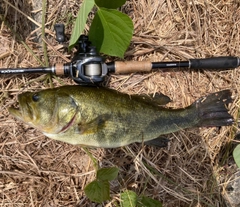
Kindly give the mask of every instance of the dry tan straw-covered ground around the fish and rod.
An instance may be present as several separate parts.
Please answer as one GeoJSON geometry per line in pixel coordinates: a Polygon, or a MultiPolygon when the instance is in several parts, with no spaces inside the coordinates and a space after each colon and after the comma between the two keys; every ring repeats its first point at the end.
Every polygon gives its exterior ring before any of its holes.
{"type": "MultiPolygon", "coordinates": [[[[37,5],[39,6],[39,5],[37,5]]],[[[54,24],[62,22],[69,37],[81,1],[47,2],[45,41],[40,12],[33,1],[0,2],[0,68],[37,67],[73,57],[55,40],[54,24]],[[22,13],[21,13],[22,12],[22,13]],[[35,20],[34,20],[35,19],[35,20]],[[37,39],[37,41],[36,41],[37,39]],[[46,42],[44,53],[43,42],[46,42]]],[[[134,24],[126,60],[178,61],[212,56],[240,57],[238,0],[130,0],[121,8],[134,24]]],[[[93,13],[91,15],[94,15],[93,13]]],[[[86,25],[85,34],[89,30],[86,25]]],[[[111,58],[109,58],[111,60],[111,58]]],[[[231,89],[229,111],[238,119],[240,68],[227,71],[190,69],[111,74],[105,86],[129,94],[162,92],[179,108],[206,94],[231,89]]],[[[126,189],[159,200],[166,207],[239,206],[232,201],[239,177],[232,150],[239,133],[231,127],[194,128],[169,134],[167,148],[132,144],[116,149],[89,149],[101,167],[119,167],[111,183],[111,200],[89,201],[84,186],[95,178],[93,163],[79,146],[51,140],[8,113],[23,91],[75,84],[45,75],[0,77],[0,205],[118,206],[126,189]],[[237,175],[237,176],[236,176],[237,175]]],[[[136,129],[139,130],[139,129],[136,129]]],[[[239,196],[239,195],[238,195],[239,196]]],[[[236,195],[237,197],[237,195],[236,195]]]]}

